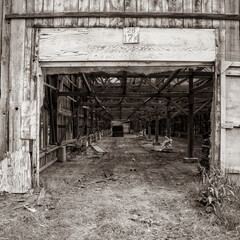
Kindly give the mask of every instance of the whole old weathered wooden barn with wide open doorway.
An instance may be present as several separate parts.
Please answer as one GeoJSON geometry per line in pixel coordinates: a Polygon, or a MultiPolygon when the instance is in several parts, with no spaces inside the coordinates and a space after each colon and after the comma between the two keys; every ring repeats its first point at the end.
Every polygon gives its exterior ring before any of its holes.
{"type": "Polygon", "coordinates": [[[111,121],[187,137],[188,158],[208,134],[210,167],[239,174],[239,21],[238,0],[0,0],[0,191],[111,121]]]}

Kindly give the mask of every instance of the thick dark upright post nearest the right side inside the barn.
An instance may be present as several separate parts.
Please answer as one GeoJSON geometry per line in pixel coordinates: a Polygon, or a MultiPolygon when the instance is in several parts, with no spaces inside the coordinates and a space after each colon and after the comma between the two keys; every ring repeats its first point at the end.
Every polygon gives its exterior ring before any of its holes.
{"type": "Polygon", "coordinates": [[[188,97],[188,158],[193,158],[194,153],[194,94],[193,76],[189,78],[188,97]]]}

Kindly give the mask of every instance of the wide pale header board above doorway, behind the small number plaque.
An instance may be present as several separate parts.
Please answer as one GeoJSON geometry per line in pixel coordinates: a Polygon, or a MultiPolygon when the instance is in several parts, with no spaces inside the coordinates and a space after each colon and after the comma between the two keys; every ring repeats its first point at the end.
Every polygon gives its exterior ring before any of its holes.
{"type": "Polygon", "coordinates": [[[215,59],[214,30],[142,28],[141,41],[137,45],[123,44],[122,34],[121,29],[42,29],[40,61],[215,59]]]}

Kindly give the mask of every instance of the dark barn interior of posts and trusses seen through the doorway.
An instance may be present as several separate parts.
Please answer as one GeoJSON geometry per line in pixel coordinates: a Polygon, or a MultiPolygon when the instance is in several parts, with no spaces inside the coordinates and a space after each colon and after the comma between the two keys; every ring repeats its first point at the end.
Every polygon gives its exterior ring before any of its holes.
{"type": "Polygon", "coordinates": [[[43,73],[40,172],[62,156],[65,161],[72,146],[84,149],[112,137],[116,124],[159,149],[162,136],[187,139],[185,157],[195,162],[197,141],[209,168],[214,66],[45,68],[43,73]]]}

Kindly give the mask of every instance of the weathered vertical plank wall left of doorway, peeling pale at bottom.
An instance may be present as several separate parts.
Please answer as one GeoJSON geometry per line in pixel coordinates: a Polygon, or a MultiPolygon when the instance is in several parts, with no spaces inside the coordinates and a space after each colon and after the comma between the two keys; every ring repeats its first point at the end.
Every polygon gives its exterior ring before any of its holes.
{"type": "MultiPolygon", "coordinates": [[[[25,12],[25,1],[3,1],[3,15],[25,12]]],[[[3,16],[5,17],[5,16],[3,16]]],[[[3,20],[1,56],[0,191],[23,193],[32,187],[37,165],[38,101],[34,32],[29,20],[3,20]],[[5,114],[2,114],[5,113],[5,114]],[[4,119],[2,119],[4,116],[4,119]]]]}

